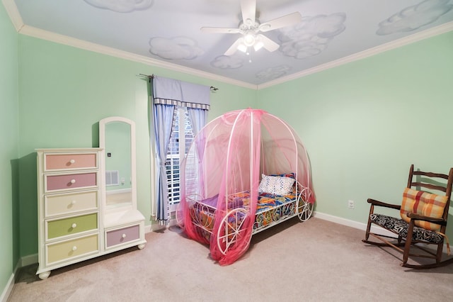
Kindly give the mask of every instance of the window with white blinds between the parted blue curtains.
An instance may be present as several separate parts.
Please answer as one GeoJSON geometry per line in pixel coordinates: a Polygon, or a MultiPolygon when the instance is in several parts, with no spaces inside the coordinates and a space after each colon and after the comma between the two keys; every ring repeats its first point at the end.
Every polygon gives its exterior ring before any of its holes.
{"type": "Polygon", "coordinates": [[[173,113],[173,125],[165,162],[170,211],[175,211],[176,205],[180,201],[179,165],[188,152],[193,137],[192,123],[190,122],[187,108],[176,107],[173,113]],[[183,125],[183,128],[180,125],[183,125]]]}

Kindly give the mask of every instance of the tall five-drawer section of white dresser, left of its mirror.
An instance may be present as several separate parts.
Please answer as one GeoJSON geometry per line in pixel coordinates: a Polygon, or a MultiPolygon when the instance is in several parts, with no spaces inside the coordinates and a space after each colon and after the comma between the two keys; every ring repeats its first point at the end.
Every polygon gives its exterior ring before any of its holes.
{"type": "Polygon", "coordinates": [[[99,148],[38,149],[40,279],[101,254],[99,148]]]}

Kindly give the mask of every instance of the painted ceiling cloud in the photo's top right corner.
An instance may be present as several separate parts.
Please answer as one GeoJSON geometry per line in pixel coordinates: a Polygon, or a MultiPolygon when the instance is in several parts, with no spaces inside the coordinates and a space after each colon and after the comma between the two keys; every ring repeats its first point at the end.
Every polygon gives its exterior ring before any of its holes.
{"type": "Polygon", "coordinates": [[[406,7],[390,18],[379,23],[377,35],[389,35],[415,30],[437,20],[453,6],[449,0],[425,0],[417,5],[406,7]]]}

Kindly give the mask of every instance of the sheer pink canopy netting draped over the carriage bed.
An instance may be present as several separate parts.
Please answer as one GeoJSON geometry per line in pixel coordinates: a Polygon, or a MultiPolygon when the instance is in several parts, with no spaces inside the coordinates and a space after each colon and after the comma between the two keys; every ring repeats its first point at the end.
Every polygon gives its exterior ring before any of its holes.
{"type": "Polygon", "coordinates": [[[248,249],[261,174],[295,173],[304,188],[304,200],[315,200],[302,142],[287,123],[263,110],[231,111],[205,125],[181,163],[180,172],[178,222],[188,237],[210,245],[212,259],[221,265],[233,263],[248,249]],[[229,196],[244,191],[250,194],[249,204],[238,212],[229,196]],[[192,221],[194,199],[217,200],[208,233],[192,221]],[[237,229],[239,223],[241,231],[229,233],[229,228],[237,229]]]}

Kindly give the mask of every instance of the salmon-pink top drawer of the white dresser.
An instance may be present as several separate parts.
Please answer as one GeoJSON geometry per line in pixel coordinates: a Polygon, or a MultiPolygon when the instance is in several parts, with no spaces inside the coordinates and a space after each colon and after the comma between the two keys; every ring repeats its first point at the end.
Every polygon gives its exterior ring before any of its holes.
{"type": "Polygon", "coordinates": [[[97,153],[45,154],[44,171],[62,169],[97,169],[97,153]]]}

